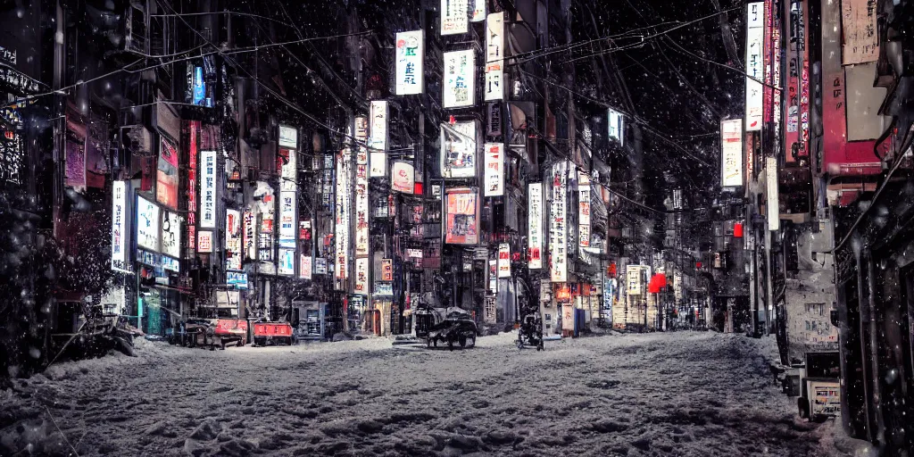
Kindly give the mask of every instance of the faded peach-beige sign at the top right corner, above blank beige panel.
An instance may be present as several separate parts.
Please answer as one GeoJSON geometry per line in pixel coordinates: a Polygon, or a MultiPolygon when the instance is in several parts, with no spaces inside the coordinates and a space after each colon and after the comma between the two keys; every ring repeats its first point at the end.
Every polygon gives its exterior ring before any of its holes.
{"type": "Polygon", "coordinates": [[[876,0],[841,1],[845,65],[875,62],[879,58],[876,8],[876,0]]]}

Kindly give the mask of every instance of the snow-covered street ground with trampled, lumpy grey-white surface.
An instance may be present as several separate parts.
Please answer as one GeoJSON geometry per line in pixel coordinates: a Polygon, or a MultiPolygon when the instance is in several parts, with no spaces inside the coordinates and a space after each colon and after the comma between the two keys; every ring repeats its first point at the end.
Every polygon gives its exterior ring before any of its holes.
{"type": "MultiPolygon", "coordinates": [[[[607,335],[518,351],[386,339],[61,363],[0,391],[0,455],[850,454],[796,420],[772,342],[607,335]],[[30,445],[30,448],[26,448],[30,445]]],[[[843,449],[844,448],[844,449],[843,449]]]]}

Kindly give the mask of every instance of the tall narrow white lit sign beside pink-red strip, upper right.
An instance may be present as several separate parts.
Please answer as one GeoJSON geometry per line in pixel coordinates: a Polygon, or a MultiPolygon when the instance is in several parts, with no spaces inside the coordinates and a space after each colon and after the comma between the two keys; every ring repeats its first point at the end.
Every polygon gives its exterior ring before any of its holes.
{"type": "Polygon", "coordinates": [[[765,79],[765,4],[750,3],[746,8],[746,131],[758,132],[763,121],[764,104],[761,81],[765,79]]]}

